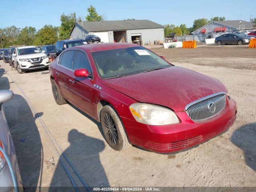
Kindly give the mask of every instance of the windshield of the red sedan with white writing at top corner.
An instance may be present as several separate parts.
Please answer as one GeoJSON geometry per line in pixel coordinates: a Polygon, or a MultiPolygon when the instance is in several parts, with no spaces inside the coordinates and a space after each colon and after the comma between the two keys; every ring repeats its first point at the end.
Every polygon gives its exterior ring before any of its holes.
{"type": "Polygon", "coordinates": [[[120,48],[92,52],[98,73],[103,79],[129,76],[171,65],[144,47],[120,48]]]}

